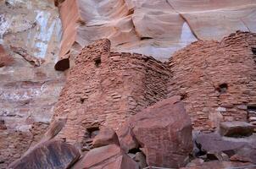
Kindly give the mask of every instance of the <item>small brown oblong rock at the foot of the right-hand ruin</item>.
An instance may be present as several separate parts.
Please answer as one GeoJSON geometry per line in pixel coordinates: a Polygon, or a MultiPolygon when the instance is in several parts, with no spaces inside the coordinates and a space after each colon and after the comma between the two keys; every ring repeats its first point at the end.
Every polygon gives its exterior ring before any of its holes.
{"type": "Polygon", "coordinates": [[[248,136],[253,134],[255,127],[246,122],[223,122],[220,123],[220,134],[228,137],[248,136]]]}

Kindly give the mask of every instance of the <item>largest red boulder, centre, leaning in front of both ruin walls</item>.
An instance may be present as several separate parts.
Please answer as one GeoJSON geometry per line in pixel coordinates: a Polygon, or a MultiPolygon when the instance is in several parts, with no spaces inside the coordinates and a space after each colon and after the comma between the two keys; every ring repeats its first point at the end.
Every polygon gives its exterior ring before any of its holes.
{"type": "Polygon", "coordinates": [[[185,166],[192,151],[192,123],[177,96],[131,117],[119,135],[124,150],[142,147],[148,166],[185,166]]]}

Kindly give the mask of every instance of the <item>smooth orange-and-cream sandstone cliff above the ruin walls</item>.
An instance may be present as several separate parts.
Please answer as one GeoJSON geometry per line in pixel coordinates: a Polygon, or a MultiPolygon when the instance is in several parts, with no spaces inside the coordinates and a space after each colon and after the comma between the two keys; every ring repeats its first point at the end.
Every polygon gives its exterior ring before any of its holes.
{"type": "Polygon", "coordinates": [[[113,51],[139,52],[167,61],[192,41],[220,41],[236,30],[256,31],[253,0],[61,2],[64,36],[59,60],[92,41],[109,38],[113,51]]]}

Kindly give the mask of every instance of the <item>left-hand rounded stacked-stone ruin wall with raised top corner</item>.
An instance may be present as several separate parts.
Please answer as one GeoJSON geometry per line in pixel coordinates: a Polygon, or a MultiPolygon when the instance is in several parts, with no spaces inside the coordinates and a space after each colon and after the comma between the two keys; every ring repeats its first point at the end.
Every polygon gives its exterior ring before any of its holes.
{"type": "Polygon", "coordinates": [[[169,68],[153,57],[110,52],[110,41],[82,50],[70,69],[55,109],[67,118],[60,137],[81,141],[86,128],[108,125],[117,130],[127,117],[167,94],[169,68]]]}

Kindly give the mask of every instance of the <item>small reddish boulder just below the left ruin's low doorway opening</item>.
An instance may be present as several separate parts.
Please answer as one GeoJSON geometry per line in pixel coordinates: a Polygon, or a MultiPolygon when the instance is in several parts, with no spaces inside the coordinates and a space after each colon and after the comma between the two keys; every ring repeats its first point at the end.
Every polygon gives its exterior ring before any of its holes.
{"type": "Polygon", "coordinates": [[[100,128],[99,134],[95,136],[92,141],[92,147],[101,147],[108,144],[117,144],[120,145],[117,134],[114,132],[112,128],[103,127],[100,128]]]}

